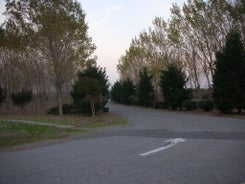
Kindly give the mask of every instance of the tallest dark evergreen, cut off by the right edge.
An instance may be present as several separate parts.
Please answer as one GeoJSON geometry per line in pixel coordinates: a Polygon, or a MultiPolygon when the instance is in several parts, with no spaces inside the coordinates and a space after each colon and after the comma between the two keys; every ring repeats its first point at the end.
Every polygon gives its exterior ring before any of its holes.
{"type": "Polygon", "coordinates": [[[223,49],[216,53],[213,77],[215,106],[224,113],[245,104],[245,49],[241,36],[231,32],[223,49]]]}

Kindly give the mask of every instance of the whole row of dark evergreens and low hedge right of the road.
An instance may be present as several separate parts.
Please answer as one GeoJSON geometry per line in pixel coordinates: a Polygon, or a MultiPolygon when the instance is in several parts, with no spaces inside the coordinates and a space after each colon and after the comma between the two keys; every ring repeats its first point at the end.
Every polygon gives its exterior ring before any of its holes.
{"type": "Polygon", "coordinates": [[[228,34],[224,47],[216,52],[214,61],[212,97],[199,99],[195,90],[188,87],[184,69],[171,63],[167,69],[160,70],[161,95],[154,92],[154,78],[148,68],[139,72],[136,84],[130,79],[117,81],[111,89],[112,100],[127,105],[205,111],[215,107],[221,112],[239,113],[245,109],[245,45],[239,32],[228,34]],[[212,100],[213,99],[213,100],[212,100]]]}

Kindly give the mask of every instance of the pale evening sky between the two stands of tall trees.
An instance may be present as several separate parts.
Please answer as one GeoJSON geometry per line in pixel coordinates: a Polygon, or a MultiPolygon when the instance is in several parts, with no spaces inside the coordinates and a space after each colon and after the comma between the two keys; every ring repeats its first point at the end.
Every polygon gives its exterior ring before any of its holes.
{"type": "MultiPolygon", "coordinates": [[[[131,40],[152,25],[156,16],[170,18],[172,3],[187,0],[78,0],[86,13],[89,35],[96,44],[97,63],[105,67],[110,83],[118,80],[116,66],[131,40]]],[[[0,24],[4,17],[4,0],[0,0],[0,24]]]]}

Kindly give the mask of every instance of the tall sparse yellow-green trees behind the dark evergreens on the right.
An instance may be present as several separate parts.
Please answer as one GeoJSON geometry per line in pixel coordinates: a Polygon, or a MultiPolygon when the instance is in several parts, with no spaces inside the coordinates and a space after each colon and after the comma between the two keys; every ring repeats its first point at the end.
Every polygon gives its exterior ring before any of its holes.
{"type": "Polygon", "coordinates": [[[245,5],[242,0],[189,0],[173,4],[168,21],[153,20],[148,30],[132,39],[117,66],[122,80],[139,80],[139,71],[147,67],[159,91],[161,70],[169,64],[183,68],[192,88],[212,87],[215,53],[225,44],[231,30],[245,38],[245,5]]]}

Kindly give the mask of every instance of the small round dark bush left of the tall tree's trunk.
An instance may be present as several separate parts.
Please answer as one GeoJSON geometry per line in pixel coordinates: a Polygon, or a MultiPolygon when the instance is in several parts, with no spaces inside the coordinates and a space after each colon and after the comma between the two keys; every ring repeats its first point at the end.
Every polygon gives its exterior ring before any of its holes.
{"type": "Polygon", "coordinates": [[[31,91],[21,91],[18,93],[13,93],[11,95],[13,104],[15,106],[21,107],[22,109],[32,100],[32,92],[31,91]]]}

